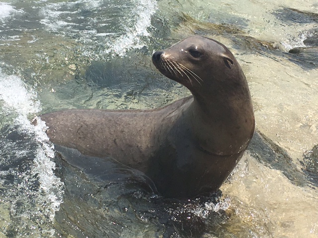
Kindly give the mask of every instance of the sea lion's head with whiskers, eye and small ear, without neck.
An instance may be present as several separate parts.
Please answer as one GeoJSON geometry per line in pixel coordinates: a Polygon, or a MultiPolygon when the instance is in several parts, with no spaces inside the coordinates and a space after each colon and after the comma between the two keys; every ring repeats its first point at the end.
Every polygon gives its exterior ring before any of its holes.
{"type": "Polygon", "coordinates": [[[203,36],[190,36],[168,49],[157,51],[152,60],[163,75],[183,84],[194,96],[203,94],[201,96],[206,97],[204,94],[213,91],[228,91],[241,86],[241,78],[245,80],[229,49],[203,36]]]}

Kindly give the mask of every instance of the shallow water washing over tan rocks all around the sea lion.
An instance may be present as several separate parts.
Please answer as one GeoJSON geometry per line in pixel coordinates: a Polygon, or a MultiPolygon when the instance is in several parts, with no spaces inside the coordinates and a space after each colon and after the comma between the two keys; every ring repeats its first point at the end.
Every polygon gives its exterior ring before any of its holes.
{"type": "Polygon", "coordinates": [[[313,0],[0,2],[0,237],[318,237],[317,12],[313,0]],[[231,49],[255,110],[258,133],[222,192],[164,199],[111,160],[55,155],[45,124],[30,124],[189,95],[151,55],[192,34],[231,49]]]}

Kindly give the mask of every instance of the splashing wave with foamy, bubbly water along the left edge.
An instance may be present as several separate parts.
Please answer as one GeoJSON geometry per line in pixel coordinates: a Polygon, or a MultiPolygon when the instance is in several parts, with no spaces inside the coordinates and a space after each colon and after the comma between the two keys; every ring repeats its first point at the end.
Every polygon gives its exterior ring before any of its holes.
{"type": "MultiPolygon", "coordinates": [[[[8,176],[14,178],[12,179],[13,184],[17,183],[16,187],[13,186],[11,189],[5,190],[4,201],[2,200],[4,203],[10,204],[11,221],[7,222],[8,224],[12,223],[11,230],[19,230],[20,234],[26,234],[28,231],[27,227],[23,227],[24,222],[24,226],[38,227],[38,234],[36,232],[32,234],[38,236],[48,233],[52,236],[54,230],[50,228],[50,224],[54,221],[55,212],[59,210],[63,190],[62,182],[53,174],[55,169],[55,164],[52,161],[54,148],[45,134],[45,122],[37,119],[37,125],[32,125],[28,119],[29,115],[36,114],[41,110],[41,105],[36,101],[36,93],[25,85],[19,77],[6,75],[1,71],[0,102],[2,103],[1,113],[14,115],[13,129],[9,129],[6,135],[1,135],[4,140],[1,143],[1,164],[22,161],[18,158],[28,157],[23,159],[23,164],[17,164],[16,168],[13,165],[9,166],[11,168],[5,169],[4,166],[4,169],[2,167],[0,170],[0,184],[7,183],[8,176]],[[10,137],[14,133],[18,137],[10,137]],[[25,166],[25,161],[30,161],[32,158],[34,158],[33,163],[29,168],[20,168],[25,166]],[[22,221],[20,227],[15,224],[17,220],[22,221]],[[49,224],[43,225],[46,223],[49,224]],[[49,228],[45,229],[43,226],[49,228]]],[[[1,210],[0,208],[0,213],[1,210]]],[[[6,233],[9,232],[6,231],[6,233]]]]}

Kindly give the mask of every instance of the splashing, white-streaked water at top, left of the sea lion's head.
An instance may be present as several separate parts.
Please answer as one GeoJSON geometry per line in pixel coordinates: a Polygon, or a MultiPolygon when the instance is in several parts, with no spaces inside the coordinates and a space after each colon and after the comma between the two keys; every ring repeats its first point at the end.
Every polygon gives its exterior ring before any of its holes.
{"type": "MultiPolygon", "coordinates": [[[[146,46],[150,33],[148,29],[152,27],[151,17],[157,10],[156,0],[130,0],[121,3],[125,8],[121,9],[114,16],[109,17],[107,13],[98,19],[87,17],[85,14],[99,11],[109,11],[112,7],[118,7],[115,2],[102,2],[99,0],[78,0],[76,2],[50,3],[40,14],[44,16],[40,20],[49,31],[56,31],[59,35],[67,35],[78,39],[84,45],[96,44],[104,49],[98,54],[111,54],[112,56],[125,56],[126,51],[131,49],[141,49],[146,46]],[[80,11],[76,4],[85,7],[86,11],[80,11]],[[102,10],[100,10],[102,9],[102,10]],[[89,13],[88,13],[89,12],[89,13]],[[73,21],[70,22],[70,19],[73,21]],[[113,18],[113,19],[112,19],[113,18]],[[112,26],[115,21],[116,26],[112,26]],[[108,27],[103,28],[103,25],[108,27]]],[[[96,46],[97,48],[97,46],[96,46]]],[[[82,54],[89,54],[83,51],[82,54]]],[[[94,53],[95,55],[96,53],[94,53]]]]}

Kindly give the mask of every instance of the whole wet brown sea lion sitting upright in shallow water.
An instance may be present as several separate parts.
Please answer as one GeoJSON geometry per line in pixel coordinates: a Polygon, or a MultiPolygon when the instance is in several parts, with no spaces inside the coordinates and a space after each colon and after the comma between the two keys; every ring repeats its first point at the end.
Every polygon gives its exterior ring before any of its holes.
{"type": "Polygon", "coordinates": [[[44,114],[53,143],[112,157],[151,178],[166,197],[217,190],[254,133],[245,76],[221,43],[183,39],[153,55],[166,77],[193,96],[154,110],[66,110],[44,114]]]}

